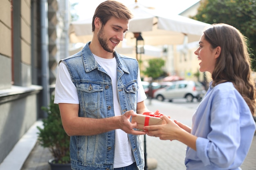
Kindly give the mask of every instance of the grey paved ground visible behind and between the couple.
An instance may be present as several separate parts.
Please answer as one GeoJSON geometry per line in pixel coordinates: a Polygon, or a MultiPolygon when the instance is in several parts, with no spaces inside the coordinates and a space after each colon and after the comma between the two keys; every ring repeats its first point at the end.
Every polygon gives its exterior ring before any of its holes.
{"type": "MultiPolygon", "coordinates": [[[[152,111],[159,110],[161,113],[191,125],[191,117],[194,110],[170,102],[153,100],[151,105],[146,104],[152,111]]],[[[144,135],[141,136],[144,139],[144,135]]],[[[184,157],[186,146],[178,141],[163,141],[156,137],[146,136],[146,152],[148,170],[185,170],[184,157]],[[156,167],[151,166],[157,163],[156,167]]],[[[35,145],[21,170],[50,170],[48,160],[52,158],[48,149],[35,145]]],[[[256,136],[245,162],[241,166],[243,170],[256,170],[256,136]]]]}

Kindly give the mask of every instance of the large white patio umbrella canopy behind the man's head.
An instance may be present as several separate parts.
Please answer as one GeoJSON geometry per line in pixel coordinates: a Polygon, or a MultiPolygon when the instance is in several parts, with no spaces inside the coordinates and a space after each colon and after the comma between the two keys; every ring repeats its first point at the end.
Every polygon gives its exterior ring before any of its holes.
{"type": "MultiPolygon", "coordinates": [[[[134,18],[130,21],[126,33],[128,46],[135,46],[133,33],[141,33],[144,43],[148,45],[183,44],[200,39],[202,31],[209,24],[186,18],[181,15],[163,15],[155,9],[148,9],[135,2],[128,6],[134,18]],[[187,38],[184,38],[187,36],[187,38]]],[[[168,13],[168,11],[166,11],[168,13]]],[[[70,24],[70,41],[86,43],[92,38],[92,18],[75,21],[70,24]]],[[[121,46],[121,45],[120,45],[121,46]]]]}

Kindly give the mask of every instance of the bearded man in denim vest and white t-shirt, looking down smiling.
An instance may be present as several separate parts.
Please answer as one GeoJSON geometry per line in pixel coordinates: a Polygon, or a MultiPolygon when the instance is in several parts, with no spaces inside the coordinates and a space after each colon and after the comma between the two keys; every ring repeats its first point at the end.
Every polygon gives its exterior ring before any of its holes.
{"type": "Polygon", "coordinates": [[[148,109],[135,59],[115,48],[128,31],[132,14],[116,1],[97,7],[93,38],[75,55],[61,60],[55,104],[70,139],[74,170],[143,170],[144,154],[131,116],[148,109]]]}

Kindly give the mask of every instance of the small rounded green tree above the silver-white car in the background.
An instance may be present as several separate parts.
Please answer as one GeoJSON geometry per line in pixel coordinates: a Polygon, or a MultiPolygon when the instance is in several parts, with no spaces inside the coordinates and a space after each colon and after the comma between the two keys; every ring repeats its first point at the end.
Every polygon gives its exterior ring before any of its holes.
{"type": "Polygon", "coordinates": [[[161,58],[148,60],[149,66],[143,73],[148,77],[152,77],[152,79],[157,79],[158,77],[165,75],[165,72],[162,70],[164,63],[165,61],[161,58]]]}

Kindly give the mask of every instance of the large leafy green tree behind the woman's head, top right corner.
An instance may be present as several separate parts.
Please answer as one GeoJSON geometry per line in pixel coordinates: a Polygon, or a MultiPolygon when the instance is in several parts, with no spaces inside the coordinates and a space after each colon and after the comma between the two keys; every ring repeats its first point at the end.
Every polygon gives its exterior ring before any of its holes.
{"type": "Polygon", "coordinates": [[[225,23],[236,27],[249,40],[252,69],[256,70],[256,0],[201,0],[198,13],[192,19],[225,23]]]}

